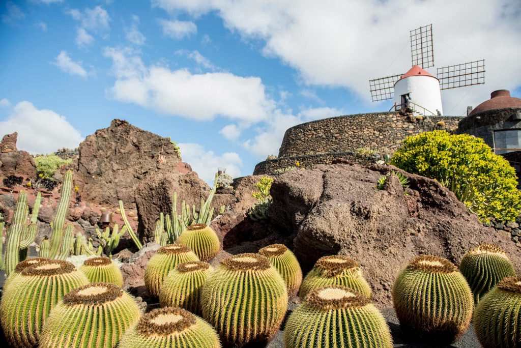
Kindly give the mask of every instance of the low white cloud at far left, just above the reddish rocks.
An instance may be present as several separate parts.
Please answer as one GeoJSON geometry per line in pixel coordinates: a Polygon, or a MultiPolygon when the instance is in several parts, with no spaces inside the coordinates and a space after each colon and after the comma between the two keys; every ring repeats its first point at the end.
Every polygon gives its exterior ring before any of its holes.
{"type": "Polygon", "coordinates": [[[34,154],[75,148],[83,140],[64,116],[37,109],[27,101],[18,103],[5,121],[0,121],[0,129],[4,134],[18,132],[17,147],[34,154]]]}

